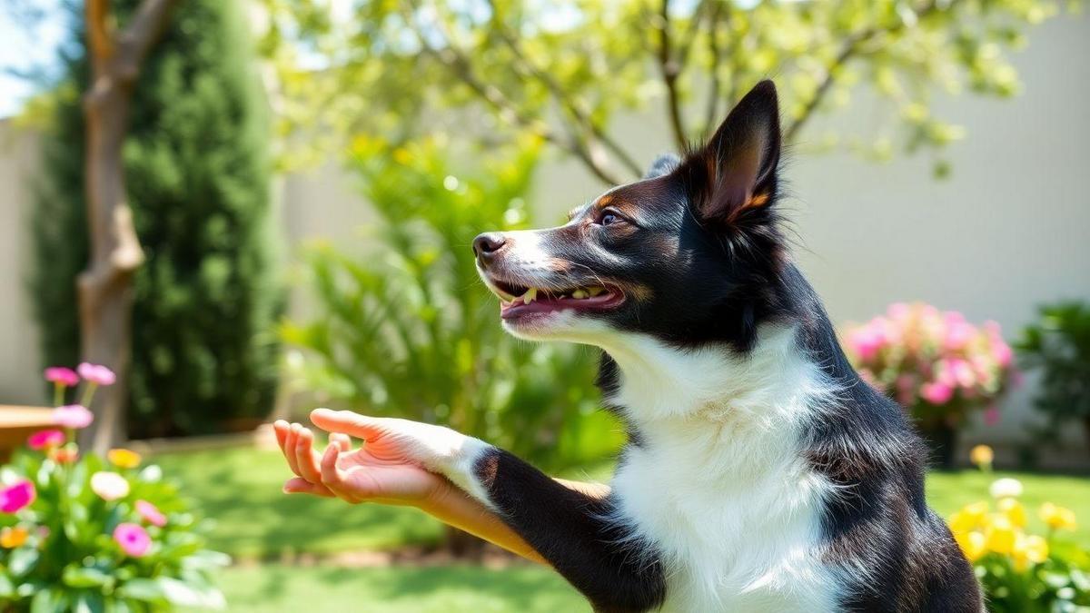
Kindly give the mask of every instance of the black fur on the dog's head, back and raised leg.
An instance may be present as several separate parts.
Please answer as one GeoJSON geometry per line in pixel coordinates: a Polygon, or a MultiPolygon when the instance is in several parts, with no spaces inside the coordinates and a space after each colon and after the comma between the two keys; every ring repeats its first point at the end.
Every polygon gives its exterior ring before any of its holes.
{"type": "MultiPolygon", "coordinates": [[[[767,323],[794,325],[798,341],[844,393],[806,428],[804,454],[844,493],[823,518],[823,555],[855,580],[845,611],[982,610],[972,569],[924,501],[924,449],[901,409],[863,383],[840,350],[821,301],[786,256],[776,209],[780,133],[776,91],[758,85],[715,135],[683,158],[659,158],[647,177],[540,231],[558,288],[605,283],[623,290],[616,309],[588,313],[610,326],[686,349],[747,352],[767,323]],[[619,221],[605,224],[606,216],[619,221]]],[[[519,287],[501,257],[488,274],[519,287]]],[[[603,356],[598,385],[618,385],[603,356]]],[[[632,432],[630,444],[642,444],[632,432]]],[[[504,453],[479,476],[506,521],[598,611],[646,611],[665,597],[653,550],[638,560],[595,501],[504,453]],[[650,562],[649,562],[650,561],[650,562]]],[[[685,476],[678,476],[683,479],[685,476]]]]}

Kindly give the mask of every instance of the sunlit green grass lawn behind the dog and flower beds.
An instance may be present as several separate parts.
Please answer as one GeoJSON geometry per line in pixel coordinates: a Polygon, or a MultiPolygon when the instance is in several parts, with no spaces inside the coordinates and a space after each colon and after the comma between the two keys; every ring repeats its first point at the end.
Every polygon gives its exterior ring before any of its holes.
{"type": "MultiPolygon", "coordinates": [[[[155,458],[184,484],[187,495],[216,520],[211,546],[240,558],[280,560],[435,543],[441,526],[415,509],[346,505],[336,500],[280,493],[288,468],[278,452],[217,449],[155,458]]],[[[594,474],[603,473],[594,470],[594,474]]],[[[1037,522],[1045,501],[1079,515],[1069,538],[1090,548],[1090,479],[1031,473],[932,473],[930,504],[948,516],[961,505],[988,498],[998,477],[1016,477],[1022,502],[1037,522]]],[[[578,478],[578,476],[576,477],[578,478]]],[[[1031,525],[1037,528],[1037,525],[1031,525]]],[[[231,611],[368,611],[375,613],[462,611],[588,611],[582,599],[550,570],[517,564],[501,570],[475,566],[341,568],[245,564],[225,570],[221,586],[231,611]]]]}

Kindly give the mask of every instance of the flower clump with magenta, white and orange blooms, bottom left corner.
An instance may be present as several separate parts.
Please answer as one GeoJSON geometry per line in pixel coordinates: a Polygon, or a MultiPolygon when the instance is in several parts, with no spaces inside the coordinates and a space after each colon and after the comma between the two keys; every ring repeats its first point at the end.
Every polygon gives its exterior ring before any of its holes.
{"type": "Polygon", "coordinates": [[[57,428],[0,468],[0,611],[222,608],[211,578],[228,558],[204,549],[202,526],[159,467],[129,449],[81,456],[73,441],[94,419],[84,405],[113,373],[83,364],[46,378],[57,428]],[[81,377],[82,402],[64,405],[81,377]]]}

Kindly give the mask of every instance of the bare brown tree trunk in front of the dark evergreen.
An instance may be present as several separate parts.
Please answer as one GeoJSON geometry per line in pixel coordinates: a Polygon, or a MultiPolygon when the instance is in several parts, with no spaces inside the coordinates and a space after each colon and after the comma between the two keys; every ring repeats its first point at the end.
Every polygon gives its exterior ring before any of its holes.
{"type": "Polygon", "coordinates": [[[125,200],[121,147],[140,67],[167,22],[174,0],[145,0],[123,32],[112,33],[107,0],[86,0],[92,83],[84,95],[84,172],[90,259],[80,274],[80,335],[83,360],[105,364],[117,382],[98,390],[95,423],[81,443],[102,453],[125,436],[132,346],[132,278],[144,262],[132,209],[125,200]]]}

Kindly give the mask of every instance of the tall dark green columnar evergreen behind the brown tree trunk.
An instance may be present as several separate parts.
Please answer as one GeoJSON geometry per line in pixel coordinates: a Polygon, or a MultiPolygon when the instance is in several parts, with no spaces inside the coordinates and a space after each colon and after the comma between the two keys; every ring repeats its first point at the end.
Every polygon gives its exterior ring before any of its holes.
{"type": "MultiPolygon", "coordinates": [[[[121,20],[136,0],[119,0],[121,20]]],[[[68,5],[78,14],[82,2],[68,5]]],[[[75,278],[87,264],[82,20],[61,48],[34,209],[32,295],[46,364],[80,354],[75,278]]],[[[269,117],[241,5],[180,3],[134,89],[124,164],[147,255],[134,280],[129,431],[230,430],[264,418],[282,311],[270,237],[269,117]],[[241,423],[240,423],[241,422],[241,423]]]]}

